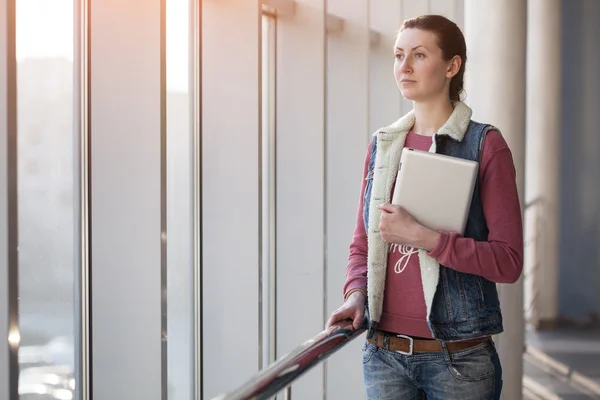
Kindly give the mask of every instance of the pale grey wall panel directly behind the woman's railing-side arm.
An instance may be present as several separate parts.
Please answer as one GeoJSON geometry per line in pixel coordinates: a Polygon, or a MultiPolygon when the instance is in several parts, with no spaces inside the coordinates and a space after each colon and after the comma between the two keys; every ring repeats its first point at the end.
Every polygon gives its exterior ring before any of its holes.
{"type": "MultiPolygon", "coordinates": [[[[356,221],[369,134],[369,1],[328,0],[343,29],[327,34],[325,147],[326,315],[343,301],[348,246],[356,221]]],[[[360,341],[327,361],[326,395],[364,393],[360,341]]]]}

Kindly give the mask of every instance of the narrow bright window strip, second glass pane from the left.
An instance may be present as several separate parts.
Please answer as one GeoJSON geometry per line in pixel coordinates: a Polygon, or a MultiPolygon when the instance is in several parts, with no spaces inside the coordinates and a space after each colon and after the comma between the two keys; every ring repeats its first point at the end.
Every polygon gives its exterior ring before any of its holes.
{"type": "Polygon", "coordinates": [[[189,0],[167,0],[167,371],[169,400],[193,397],[189,0]]]}

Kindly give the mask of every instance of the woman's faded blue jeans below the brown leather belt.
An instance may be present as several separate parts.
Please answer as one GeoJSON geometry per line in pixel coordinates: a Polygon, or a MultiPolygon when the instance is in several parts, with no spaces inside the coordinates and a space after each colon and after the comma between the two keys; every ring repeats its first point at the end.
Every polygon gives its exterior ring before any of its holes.
{"type": "Polygon", "coordinates": [[[498,400],[502,367],[490,339],[466,350],[404,355],[365,341],[368,400],[498,400]]]}

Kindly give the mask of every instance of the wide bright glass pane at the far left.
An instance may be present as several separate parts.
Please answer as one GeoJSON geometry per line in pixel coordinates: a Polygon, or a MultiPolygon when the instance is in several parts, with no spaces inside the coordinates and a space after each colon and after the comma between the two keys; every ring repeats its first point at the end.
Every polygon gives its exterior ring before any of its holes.
{"type": "Polygon", "coordinates": [[[19,394],[74,398],[73,0],[17,0],[19,394]]]}

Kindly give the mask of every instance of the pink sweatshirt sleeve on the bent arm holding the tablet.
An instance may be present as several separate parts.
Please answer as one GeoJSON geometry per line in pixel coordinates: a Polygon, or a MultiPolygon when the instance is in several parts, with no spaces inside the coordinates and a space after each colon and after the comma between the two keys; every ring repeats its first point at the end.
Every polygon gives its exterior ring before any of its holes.
{"type": "Polygon", "coordinates": [[[488,240],[442,232],[428,254],[456,271],[514,283],[523,270],[523,223],[512,154],[497,131],[486,136],[479,180],[488,240]]]}

